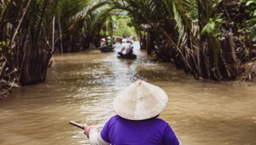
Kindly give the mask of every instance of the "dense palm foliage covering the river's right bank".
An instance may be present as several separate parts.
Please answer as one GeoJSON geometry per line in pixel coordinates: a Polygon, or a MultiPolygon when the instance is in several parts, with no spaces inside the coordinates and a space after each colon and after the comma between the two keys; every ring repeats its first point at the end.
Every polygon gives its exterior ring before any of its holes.
{"type": "Polygon", "coordinates": [[[240,66],[256,56],[255,44],[249,39],[255,27],[254,3],[124,0],[113,5],[130,11],[136,26],[149,25],[148,39],[157,47],[151,44],[147,49],[154,49],[159,58],[172,61],[195,78],[229,80],[241,74],[240,66]]]}

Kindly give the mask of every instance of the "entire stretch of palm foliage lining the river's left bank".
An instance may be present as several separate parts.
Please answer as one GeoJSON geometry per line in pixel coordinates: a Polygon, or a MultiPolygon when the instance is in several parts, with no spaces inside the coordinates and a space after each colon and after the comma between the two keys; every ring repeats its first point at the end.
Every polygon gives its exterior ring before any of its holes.
{"type": "Polygon", "coordinates": [[[64,51],[69,52],[92,41],[107,19],[107,11],[110,11],[104,6],[107,3],[84,0],[1,1],[0,98],[11,87],[44,81],[50,58],[60,43],[63,43],[64,51]]]}

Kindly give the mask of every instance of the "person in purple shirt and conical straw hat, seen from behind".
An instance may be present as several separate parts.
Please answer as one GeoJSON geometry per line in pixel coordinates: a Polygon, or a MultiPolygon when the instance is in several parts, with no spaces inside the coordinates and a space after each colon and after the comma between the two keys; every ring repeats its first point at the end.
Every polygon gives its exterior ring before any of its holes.
{"type": "Polygon", "coordinates": [[[181,145],[170,125],[158,118],[167,102],[160,87],[137,80],[114,99],[117,115],[99,133],[88,125],[84,133],[91,145],[181,145]]]}

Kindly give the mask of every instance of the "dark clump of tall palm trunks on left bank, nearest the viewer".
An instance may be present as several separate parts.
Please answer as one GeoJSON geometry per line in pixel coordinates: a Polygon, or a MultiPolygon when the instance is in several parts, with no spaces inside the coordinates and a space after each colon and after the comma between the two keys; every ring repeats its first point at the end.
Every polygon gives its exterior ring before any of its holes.
{"type": "MultiPolygon", "coordinates": [[[[2,90],[33,84],[46,77],[50,51],[51,19],[59,1],[1,1],[2,90]]],[[[3,92],[1,96],[6,93],[3,92]]]]}

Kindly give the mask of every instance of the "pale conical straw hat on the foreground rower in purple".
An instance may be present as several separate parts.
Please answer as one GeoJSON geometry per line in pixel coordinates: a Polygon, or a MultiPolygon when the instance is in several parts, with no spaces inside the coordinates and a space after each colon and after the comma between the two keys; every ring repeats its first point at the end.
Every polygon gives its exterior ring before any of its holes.
{"type": "Polygon", "coordinates": [[[168,96],[155,85],[137,80],[122,90],[114,99],[114,111],[122,118],[144,120],[164,111],[168,96]]]}

